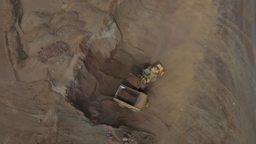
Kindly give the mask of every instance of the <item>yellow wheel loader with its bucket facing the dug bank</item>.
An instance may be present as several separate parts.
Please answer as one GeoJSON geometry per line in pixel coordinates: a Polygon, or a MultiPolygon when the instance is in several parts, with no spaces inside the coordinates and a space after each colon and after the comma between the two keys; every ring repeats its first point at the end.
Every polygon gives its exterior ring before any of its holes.
{"type": "Polygon", "coordinates": [[[147,67],[142,70],[142,74],[137,76],[130,74],[126,79],[131,85],[136,88],[141,88],[142,90],[148,86],[148,83],[155,82],[158,80],[158,77],[164,75],[164,68],[161,64],[156,64],[154,67],[147,67]]]}

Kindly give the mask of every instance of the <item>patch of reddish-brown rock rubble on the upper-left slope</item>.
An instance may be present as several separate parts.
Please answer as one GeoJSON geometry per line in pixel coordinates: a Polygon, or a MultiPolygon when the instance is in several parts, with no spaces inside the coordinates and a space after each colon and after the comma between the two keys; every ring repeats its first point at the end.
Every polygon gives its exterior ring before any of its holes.
{"type": "Polygon", "coordinates": [[[68,51],[69,46],[63,41],[56,41],[48,47],[42,47],[38,52],[39,61],[47,62],[49,58],[61,56],[63,52],[68,51]]]}

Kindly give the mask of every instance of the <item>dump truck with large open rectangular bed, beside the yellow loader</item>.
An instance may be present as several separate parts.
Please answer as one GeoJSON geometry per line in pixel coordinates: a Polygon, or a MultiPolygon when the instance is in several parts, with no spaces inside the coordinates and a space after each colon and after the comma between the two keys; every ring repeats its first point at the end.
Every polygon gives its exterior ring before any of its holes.
{"type": "Polygon", "coordinates": [[[127,107],[133,112],[139,112],[148,106],[148,96],[130,87],[120,85],[115,93],[114,101],[121,107],[127,107]]]}

